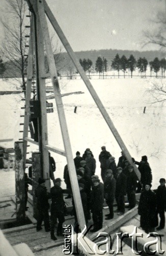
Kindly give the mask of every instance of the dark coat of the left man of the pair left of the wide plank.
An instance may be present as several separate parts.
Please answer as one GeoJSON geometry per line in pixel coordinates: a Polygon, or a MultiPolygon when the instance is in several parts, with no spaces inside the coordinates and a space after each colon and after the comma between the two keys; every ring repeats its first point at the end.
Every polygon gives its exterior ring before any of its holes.
{"type": "Polygon", "coordinates": [[[35,197],[37,198],[37,209],[38,210],[48,210],[48,194],[46,187],[38,185],[35,190],[35,197]]]}

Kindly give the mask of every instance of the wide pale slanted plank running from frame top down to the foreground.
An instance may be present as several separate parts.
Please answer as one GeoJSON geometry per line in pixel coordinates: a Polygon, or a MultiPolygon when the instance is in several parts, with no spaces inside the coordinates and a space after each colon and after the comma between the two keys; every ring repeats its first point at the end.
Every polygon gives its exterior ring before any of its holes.
{"type": "Polygon", "coordinates": [[[51,74],[53,92],[54,92],[54,95],[56,98],[57,111],[58,111],[58,115],[59,115],[61,132],[62,132],[64,147],[65,147],[65,152],[66,152],[66,157],[67,157],[67,164],[68,164],[68,168],[69,168],[69,176],[70,176],[70,181],[71,181],[71,186],[72,186],[72,191],[73,191],[73,198],[74,198],[74,202],[75,202],[78,223],[82,230],[82,229],[84,229],[86,222],[85,222],[84,211],[82,208],[82,203],[81,203],[81,198],[80,198],[78,181],[77,181],[77,177],[76,177],[76,170],[75,170],[75,165],[74,165],[74,161],[73,161],[73,155],[72,155],[71,144],[70,144],[70,139],[69,139],[69,134],[68,134],[68,128],[67,128],[67,123],[66,123],[66,118],[65,118],[65,112],[64,112],[64,108],[63,108],[63,102],[62,102],[62,97],[61,97],[61,92],[60,92],[60,87],[59,87],[57,69],[56,69],[56,65],[54,62],[54,58],[53,58],[51,41],[50,41],[50,37],[49,37],[46,16],[44,13],[43,2],[38,1],[37,6],[38,6],[38,14],[37,15],[40,18],[40,23],[41,23],[41,27],[42,27],[42,31],[43,31],[43,36],[44,36],[44,43],[45,43],[45,48],[46,48],[46,53],[47,53],[49,72],[51,74]]]}

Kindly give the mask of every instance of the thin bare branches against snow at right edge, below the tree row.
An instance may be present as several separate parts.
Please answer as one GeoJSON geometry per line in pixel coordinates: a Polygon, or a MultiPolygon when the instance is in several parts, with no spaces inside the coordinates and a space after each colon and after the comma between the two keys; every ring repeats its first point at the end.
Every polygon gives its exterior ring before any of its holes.
{"type": "Polygon", "coordinates": [[[151,87],[146,91],[152,96],[152,104],[166,101],[166,84],[160,79],[151,83],[151,87]]]}

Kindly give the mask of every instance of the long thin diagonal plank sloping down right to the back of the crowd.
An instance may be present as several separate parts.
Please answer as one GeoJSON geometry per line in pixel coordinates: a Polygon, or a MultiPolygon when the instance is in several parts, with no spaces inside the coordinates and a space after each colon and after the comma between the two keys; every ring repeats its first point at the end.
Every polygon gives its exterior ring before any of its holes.
{"type": "Polygon", "coordinates": [[[50,23],[52,24],[52,27],[54,28],[54,30],[57,32],[59,38],[61,39],[62,41],[62,44],[64,45],[67,53],[69,54],[71,60],[73,61],[74,63],[74,66],[76,67],[77,71],[79,72],[82,80],[85,82],[91,96],[93,97],[96,105],[98,106],[98,109],[100,110],[103,118],[105,119],[110,131],[112,131],[115,139],[117,140],[121,150],[124,152],[127,160],[129,161],[129,163],[133,166],[134,168],[134,171],[138,177],[138,179],[140,180],[141,178],[141,174],[139,172],[139,169],[137,169],[136,165],[133,163],[132,159],[131,159],[131,156],[130,156],[130,153],[128,152],[127,150],[127,147],[125,146],[122,138],[120,137],[116,127],[114,126],[114,123],[113,121],[110,119],[108,113],[106,112],[105,108],[104,108],[104,105],[102,104],[101,100],[99,99],[96,91],[94,90],[88,76],[86,75],[86,73],[84,72],[84,70],[82,69],[78,59],[76,58],[66,36],[64,35],[62,29],[60,28],[56,18],[53,16],[50,8],[48,7],[47,3],[45,0],[43,0],[43,3],[44,3],[44,9],[45,9],[45,13],[50,21],[50,23]]]}

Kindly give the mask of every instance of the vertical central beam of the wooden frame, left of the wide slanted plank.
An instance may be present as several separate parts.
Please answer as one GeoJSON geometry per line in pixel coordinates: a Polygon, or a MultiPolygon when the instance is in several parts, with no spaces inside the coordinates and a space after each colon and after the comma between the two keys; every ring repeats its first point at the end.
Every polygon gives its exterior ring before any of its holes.
{"type": "Polygon", "coordinates": [[[45,74],[45,54],[44,54],[44,42],[43,32],[40,24],[39,15],[36,15],[36,28],[35,28],[35,40],[36,40],[36,56],[37,56],[37,96],[40,100],[41,116],[39,118],[39,151],[42,153],[42,169],[43,178],[47,191],[50,191],[50,179],[49,179],[49,157],[48,151],[44,145],[48,144],[47,133],[47,111],[46,111],[46,92],[45,92],[45,79],[42,79],[45,74]],[[40,134],[41,133],[41,134],[40,134]]]}

